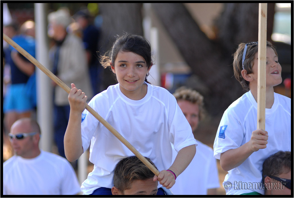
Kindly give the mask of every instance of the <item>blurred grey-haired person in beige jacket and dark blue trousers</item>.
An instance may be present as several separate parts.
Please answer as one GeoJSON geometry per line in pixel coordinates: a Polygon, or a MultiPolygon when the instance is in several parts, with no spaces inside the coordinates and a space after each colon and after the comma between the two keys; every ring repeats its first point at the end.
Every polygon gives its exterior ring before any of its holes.
{"type": "MultiPolygon", "coordinates": [[[[72,22],[67,9],[59,9],[48,15],[48,34],[53,39],[54,45],[49,50],[49,65],[51,71],[66,85],[71,87],[74,83],[78,89],[83,90],[90,100],[92,89],[88,74],[86,51],[81,38],[67,32],[67,27],[72,22]]],[[[61,87],[54,86],[54,140],[59,155],[64,154],[64,133],[69,121],[68,93],[61,87]]],[[[74,167],[76,163],[74,164],[74,167]]]]}

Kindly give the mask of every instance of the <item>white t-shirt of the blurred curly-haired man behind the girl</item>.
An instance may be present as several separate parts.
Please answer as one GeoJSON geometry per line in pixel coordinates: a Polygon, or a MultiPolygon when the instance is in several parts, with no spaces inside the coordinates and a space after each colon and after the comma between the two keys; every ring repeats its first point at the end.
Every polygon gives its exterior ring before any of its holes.
{"type": "MultiPolygon", "coordinates": [[[[196,154],[189,166],[177,177],[171,187],[177,195],[206,195],[207,190],[219,187],[218,168],[213,157],[213,149],[197,140],[196,154]]],[[[173,161],[178,153],[173,150],[173,161]]]]}

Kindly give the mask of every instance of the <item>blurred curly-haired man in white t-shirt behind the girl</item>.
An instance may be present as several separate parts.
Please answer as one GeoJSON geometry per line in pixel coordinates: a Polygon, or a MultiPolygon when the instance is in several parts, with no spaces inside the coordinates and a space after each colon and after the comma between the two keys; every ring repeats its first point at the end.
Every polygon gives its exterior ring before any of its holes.
{"type": "MultiPolygon", "coordinates": [[[[178,88],[175,96],[179,107],[191,125],[192,131],[204,117],[203,96],[196,90],[178,88]]],[[[213,149],[197,140],[196,154],[190,165],[177,177],[171,190],[174,194],[217,194],[218,169],[213,149]]],[[[177,152],[173,149],[173,160],[177,152]]]]}

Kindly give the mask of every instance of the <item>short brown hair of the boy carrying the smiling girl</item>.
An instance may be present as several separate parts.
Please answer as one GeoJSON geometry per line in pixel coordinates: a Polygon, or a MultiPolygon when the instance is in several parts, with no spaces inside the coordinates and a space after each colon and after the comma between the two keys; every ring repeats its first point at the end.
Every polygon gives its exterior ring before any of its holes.
{"type": "MultiPolygon", "coordinates": [[[[145,158],[157,169],[148,157],[145,158]]],[[[117,163],[114,169],[113,185],[121,192],[124,192],[124,190],[131,188],[134,180],[146,180],[153,178],[154,175],[138,157],[131,156],[117,163]]]]}

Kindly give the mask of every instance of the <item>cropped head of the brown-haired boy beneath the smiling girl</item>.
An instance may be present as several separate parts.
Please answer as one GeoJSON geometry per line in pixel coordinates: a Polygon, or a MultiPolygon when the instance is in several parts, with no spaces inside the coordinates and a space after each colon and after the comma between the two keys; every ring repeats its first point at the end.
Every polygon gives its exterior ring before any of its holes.
{"type": "MultiPolygon", "coordinates": [[[[156,167],[148,157],[145,158],[156,167]]],[[[158,181],[153,181],[153,177],[154,173],[138,157],[124,158],[114,169],[111,192],[113,195],[156,195],[158,181]]]]}

